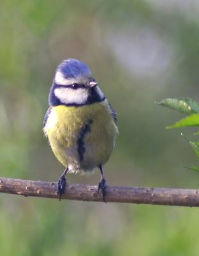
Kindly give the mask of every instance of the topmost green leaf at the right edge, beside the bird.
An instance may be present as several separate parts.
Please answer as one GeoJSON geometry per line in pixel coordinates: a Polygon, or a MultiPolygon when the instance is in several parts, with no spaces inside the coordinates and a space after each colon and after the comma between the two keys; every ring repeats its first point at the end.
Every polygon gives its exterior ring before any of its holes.
{"type": "Polygon", "coordinates": [[[177,110],[185,115],[199,113],[199,103],[190,98],[164,99],[158,103],[166,108],[177,110]]]}

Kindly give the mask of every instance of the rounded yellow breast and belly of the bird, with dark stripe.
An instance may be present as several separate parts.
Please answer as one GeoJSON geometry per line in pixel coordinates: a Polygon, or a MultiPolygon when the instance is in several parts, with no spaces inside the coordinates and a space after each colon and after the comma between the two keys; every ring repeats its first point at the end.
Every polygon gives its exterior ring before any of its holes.
{"type": "Polygon", "coordinates": [[[57,159],[77,172],[92,170],[108,161],[117,126],[105,100],[78,107],[53,107],[44,131],[57,159]]]}

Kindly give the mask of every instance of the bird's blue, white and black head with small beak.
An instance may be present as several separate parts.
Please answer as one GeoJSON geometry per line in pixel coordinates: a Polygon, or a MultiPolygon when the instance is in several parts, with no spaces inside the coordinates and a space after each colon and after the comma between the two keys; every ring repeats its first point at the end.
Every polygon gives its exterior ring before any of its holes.
{"type": "Polygon", "coordinates": [[[67,59],[57,67],[50,89],[50,106],[82,106],[104,99],[91,70],[82,61],[67,59]]]}

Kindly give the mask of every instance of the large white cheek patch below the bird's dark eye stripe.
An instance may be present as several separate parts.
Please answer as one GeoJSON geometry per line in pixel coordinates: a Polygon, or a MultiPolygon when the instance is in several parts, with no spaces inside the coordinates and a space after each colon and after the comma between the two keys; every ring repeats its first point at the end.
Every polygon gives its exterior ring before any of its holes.
{"type": "Polygon", "coordinates": [[[84,104],[89,95],[88,90],[84,88],[56,88],[54,93],[63,104],[84,104]]]}

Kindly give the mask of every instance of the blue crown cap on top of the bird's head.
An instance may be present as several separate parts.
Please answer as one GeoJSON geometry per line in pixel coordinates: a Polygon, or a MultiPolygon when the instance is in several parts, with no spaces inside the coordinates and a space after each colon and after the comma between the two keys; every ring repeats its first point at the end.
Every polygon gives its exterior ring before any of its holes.
{"type": "Polygon", "coordinates": [[[91,70],[82,61],[76,59],[63,60],[57,67],[57,71],[66,78],[91,77],[91,70]]]}

